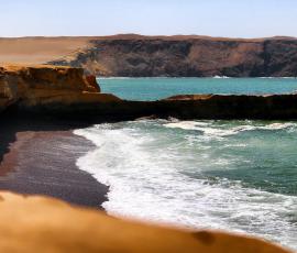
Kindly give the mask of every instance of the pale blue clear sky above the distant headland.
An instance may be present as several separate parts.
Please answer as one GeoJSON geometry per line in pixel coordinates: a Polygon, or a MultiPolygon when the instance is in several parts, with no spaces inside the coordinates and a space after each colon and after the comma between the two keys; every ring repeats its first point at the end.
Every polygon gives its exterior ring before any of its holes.
{"type": "Polygon", "coordinates": [[[0,0],[0,36],[297,36],[297,0],[0,0]]]}

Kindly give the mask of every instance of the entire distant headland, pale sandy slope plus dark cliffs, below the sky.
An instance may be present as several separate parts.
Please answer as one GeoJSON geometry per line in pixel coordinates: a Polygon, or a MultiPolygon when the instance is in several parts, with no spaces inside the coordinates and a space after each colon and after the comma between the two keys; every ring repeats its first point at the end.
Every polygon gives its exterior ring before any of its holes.
{"type": "Polygon", "coordinates": [[[0,63],[84,67],[100,76],[297,76],[297,38],[197,35],[0,38],[0,63]]]}

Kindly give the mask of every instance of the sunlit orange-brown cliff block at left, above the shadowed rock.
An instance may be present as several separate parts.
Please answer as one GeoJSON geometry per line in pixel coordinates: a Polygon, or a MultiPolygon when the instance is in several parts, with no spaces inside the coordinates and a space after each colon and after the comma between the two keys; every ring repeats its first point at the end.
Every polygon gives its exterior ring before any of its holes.
{"type": "Polygon", "coordinates": [[[84,69],[56,66],[0,67],[0,110],[11,103],[23,107],[119,100],[101,95],[96,78],[84,69]]]}

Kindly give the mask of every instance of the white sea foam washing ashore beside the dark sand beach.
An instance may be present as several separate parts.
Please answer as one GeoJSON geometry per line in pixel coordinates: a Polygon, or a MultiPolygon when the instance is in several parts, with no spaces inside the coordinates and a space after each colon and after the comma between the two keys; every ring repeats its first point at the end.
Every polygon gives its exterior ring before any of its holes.
{"type": "MultiPolygon", "coordinates": [[[[97,146],[80,157],[77,165],[110,186],[108,201],[103,204],[109,215],[186,228],[232,230],[297,249],[297,226],[290,222],[297,197],[246,188],[241,180],[224,177],[190,176],[244,162],[211,156],[213,144],[205,135],[224,139],[244,131],[279,131],[293,127],[294,123],[243,122],[223,129],[213,121],[95,125],[75,131],[97,146]],[[176,128],[198,130],[201,134],[177,133],[176,128]],[[202,148],[208,145],[210,148],[202,148]]],[[[234,148],[244,148],[241,143],[237,145],[234,148]]]]}

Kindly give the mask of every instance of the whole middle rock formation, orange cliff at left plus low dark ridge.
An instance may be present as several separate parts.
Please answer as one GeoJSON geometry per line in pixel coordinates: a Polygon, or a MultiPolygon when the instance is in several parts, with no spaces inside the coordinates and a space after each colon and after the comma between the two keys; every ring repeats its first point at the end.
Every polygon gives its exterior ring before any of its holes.
{"type": "Polygon", "coordinates": [[[80,120],[177,119],[297,120],[297,95],[183,95],[160,101],[127,101],[100,94],[94,76],[80,68],[0,68],[0,108],[80,120]]]}

